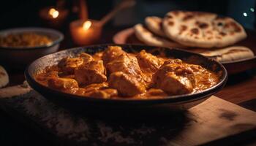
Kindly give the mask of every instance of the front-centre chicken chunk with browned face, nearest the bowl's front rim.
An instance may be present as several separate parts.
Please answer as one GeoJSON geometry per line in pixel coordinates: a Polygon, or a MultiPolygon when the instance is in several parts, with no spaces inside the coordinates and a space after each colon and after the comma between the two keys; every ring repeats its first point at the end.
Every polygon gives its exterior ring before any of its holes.
{"type": "Polygon", "coordinates": [[[135,96],[146,92],[146,87],[136,77],[124,72],[113,72],[109,77],[110,88],[115,88],[123,96],[135,96]]]}

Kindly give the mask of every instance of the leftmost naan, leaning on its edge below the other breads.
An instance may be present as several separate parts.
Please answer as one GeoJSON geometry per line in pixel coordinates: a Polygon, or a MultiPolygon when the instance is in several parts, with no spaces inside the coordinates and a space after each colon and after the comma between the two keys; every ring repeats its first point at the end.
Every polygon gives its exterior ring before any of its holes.
{"type": "Polygon", "coordinates": [[[171,42],[168,39],[157,37],[148,31],[142,24],[137,24],[134,26],[136,37],[146,45],[154,45],[159,47],[182,47],[176,42],[171,42]]]}

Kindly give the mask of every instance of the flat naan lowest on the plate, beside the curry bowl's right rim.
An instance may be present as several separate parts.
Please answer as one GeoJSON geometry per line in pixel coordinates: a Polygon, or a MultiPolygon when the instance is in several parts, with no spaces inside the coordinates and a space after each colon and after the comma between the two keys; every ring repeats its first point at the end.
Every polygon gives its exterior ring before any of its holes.
{"type": "Polygon", "coordinates": [[[226,47],[223,49],[206,51],[200,54],[205,55],[206,57],[214,58],[221,63],[229,61],[239,61],[246,58],[254,57],[254,53],[252,52],[252,50],[244,46],[226,47]]]}

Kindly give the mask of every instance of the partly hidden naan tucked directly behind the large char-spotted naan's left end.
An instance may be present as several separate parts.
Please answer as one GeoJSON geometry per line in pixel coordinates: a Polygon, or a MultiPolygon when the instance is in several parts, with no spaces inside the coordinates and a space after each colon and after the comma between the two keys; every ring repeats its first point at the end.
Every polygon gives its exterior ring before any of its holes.
{"type": "Polygon", "coordinates": [[[145,24],[149,31],[161,37],[166,37],[165,32],[162,30],[162,18],[156,16],[146,17],[145,24]]]}

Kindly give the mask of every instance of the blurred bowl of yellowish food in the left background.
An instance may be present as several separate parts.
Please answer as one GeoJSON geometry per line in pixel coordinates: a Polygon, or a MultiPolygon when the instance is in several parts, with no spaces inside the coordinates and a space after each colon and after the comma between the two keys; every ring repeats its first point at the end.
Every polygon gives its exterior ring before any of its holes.
{"type": "Polygon", "coordinates": [[[36,47],[1,47],[0,46],[0,63],[10,66],[10,68],[22,69],[35,59],[54,53],[59,49],[59,43],[64,39],[61,32],[50,28],[11,28],[0,31],[0,36],[8,34],[20,34],[23,32],[32,32],[43,34],[53,40],[49,45],[40,45],[36,47]]]}

